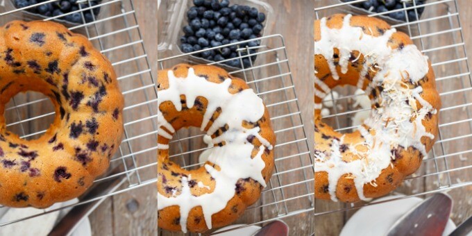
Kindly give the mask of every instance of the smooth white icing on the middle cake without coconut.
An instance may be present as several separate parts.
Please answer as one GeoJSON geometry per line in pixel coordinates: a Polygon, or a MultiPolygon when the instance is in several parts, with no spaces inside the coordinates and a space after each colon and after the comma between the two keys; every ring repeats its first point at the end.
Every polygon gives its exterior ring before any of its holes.
{"type": "MultiPolygon", "coordinates": [[[[178,205],[180,208],[180,227],[187,232],[187,217],[192,208],[201,206],[205,222],[208,228],[212,228],[212,214],[223,210],[228,201],[235,195],[235,185],[240,178],[252,178],[258,181],[263,187],[266,187],[262,169],[265,162],[262,160],[264,149],[272,149],[270,142],[265,140],[259,134],[260,128],[244,128],[243,121],[257,122],[264,115],[264,104],[251,89],[242,90],[237,94],[230,94],[228,88],[231,79],[226,78],[223,83],[212,83],[201,76],[196,76],[194,69],[189,68],[186,78],[177,78],[174,71],[168,71],[169,88],[160,90],[158,96],[158,107],[162,102],[171,101],[176,110],[182,110],[180,95],[185,95],[187,107],[192,108],[194,101],[198,96],[203,96],[208,100],[206,112],[203,115],[201,130],[208,125],[210,118],[217,108],[221,108],[219,117],[208,128],[203,141],[212,149],[205,150],[208,155],[208,162],[217,165],[220,170],[214,169],[212,165],[204,165],[203,168],[214,178],[215,185],[212,192],[202,194],[201,196],[192,195],[189,187],[189,178],[182,177],[182,188],[178,189],[176,194],[171,197],[163,196],[158,192],[158,210],[162,210],[171,205],[178,205]],[[222,135],[212,138],[219,128],[228,125],[228,129],[222,135]],[[247,138],[253,135],[262,143],[261,146],[254,146],[247,141],[247,138]],[[224,146],[214,146],[220,142],[225,142],[224,146]],[[251,158],[253,150],[258,150],[257,155],[251,158]]],[[[158,128],[171,128],[171,124],[164,118],[162,112],[158,110],[158,128]],[[170,127],[169,127],[170,126],[170,127]]],[[[158,133],[162,137],[171,138],[171,134],[164,132],[158,133]],[[170,137],[169,137],[170,135],[170,137]]],[[[165,148],[165,146],[159,146],[165,148]]],[[[198,187],[203,185],[199,181],[198,187]]]]}

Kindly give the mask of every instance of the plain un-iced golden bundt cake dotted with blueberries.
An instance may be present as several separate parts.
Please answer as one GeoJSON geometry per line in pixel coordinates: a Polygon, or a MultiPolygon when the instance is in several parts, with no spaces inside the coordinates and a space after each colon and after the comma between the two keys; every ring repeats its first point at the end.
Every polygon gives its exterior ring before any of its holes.
{"type": "Polygon", "coordinates": [[[0,28],[0,66],[0,204],[46,208],[76,198],[121,142],[124,101],[110,62],[60,24],[15,21],[0,28]],[[56,110],[37,140],[8,132],[3,116],[30,90],[56,110]]]}

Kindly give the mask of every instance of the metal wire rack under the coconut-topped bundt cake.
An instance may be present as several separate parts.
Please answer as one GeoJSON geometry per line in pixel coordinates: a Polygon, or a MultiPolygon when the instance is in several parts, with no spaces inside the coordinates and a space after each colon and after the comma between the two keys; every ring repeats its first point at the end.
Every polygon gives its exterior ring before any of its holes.
{"type": "MultiPolygon", "coordinates": [[[[366,0],[346,3],[338,0],[315,0],[315,19],[340,12],[353,13],[350,4],[363,1],[366,0]]],[[[429,57],[435,70],[442,108],[439,113],[439,137],[432,151],[423,159],[421,168],[407,177],[394,194],[405,194],[405,197],[423,196],[456,189],[460,192],[450,192],[453,199],[457,200],[453,212],[461,211],[460,208],[469,208],[470,212],[472,203],[467,203],[464,196],[468,196],[467,189],[472,185],[472,77],[457,1],[430,0],[425,1],[423,6],[416,6],[416,3],[410,7],[403,3],[403,6],[403,9],[369,16],[386,16],[396,11],[406,13],[406,10],[411,9],[417,13],[420,7],[425,8],[418,21],[410,21],[407,18],[406,22],[392,24],[392,27],[410,35],[416,46],[429,57]]],[[[339,132],[351,132],[356,127],[351,121],[355,113],[370,109],[353,107],[355,88],[338,87],[335,90],[339,93],[337,99],[332,99],[332,96],[328,95],[328,101],[335,106],[330,110],[331,115],[323,119],[339,132]]],[[[369,203],[340,204],[323,201],[317,204],[319,208],[315,206],[315,215],[354,210],[364,205],[369,203]]],[[[453,214],[456,223],[460,223],[466,217],[453,214]]]]}

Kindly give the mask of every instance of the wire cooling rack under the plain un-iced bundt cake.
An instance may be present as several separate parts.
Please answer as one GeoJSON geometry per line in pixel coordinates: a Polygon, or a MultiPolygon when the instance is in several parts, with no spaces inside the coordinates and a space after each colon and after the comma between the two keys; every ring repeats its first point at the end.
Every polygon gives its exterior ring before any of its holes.
{"type": "MultiPolygon", "coordinates": [[[[55,3],[59,0],[44,1],[34,6],[46,3],[55,3]]],[[[85,12],[100,8],[99,15],[92,22],[85,24],[67,24],[71,31],[81,33],[88,37],[112,62],[117,72],[119,85],[124,94],[124,140],[119,146],[119,151],[110,160],[110,170],[113,172],[100,176],[94,185],[103,183],[113,178],[122,178],[119,186],[111,192],[93,196],[89,199],[81,199],[76,204],[66,205],[59,209],[70,208],[76,205],[90,203],[104,199],[108,196],[126,192],[157,181],[156,176],[156,151],[157,151],[157,89],[151,74],[148,56],[144,49],[140,26],[137,24],[135,8],[132,0],[103,0],[98,5],[92,6],[93,0],[78,0],[84,3],[79,6],[83,22],[85,12]]],[[[16,9],[12,1],[0,1],[3,8],[0,12],[2,24],[13,19],[53,21],[59,17],[40,18],[34,17],[27,8],[16,9]]],[[[18,94],[6,107],[5,117],[7,129],[17,133],[26,140],[40,137],[55,117],[54,108],[47,96],[28,92],[18,94]]],[[[92,186],[93,187],[93,186],[92,186]]],[[[92,188],[91,187],[91,188],[92,188]]],[[[56,209],[56,210],[59,210],[56,209]]],[[[6,226],[17,221],[48,214],[56,210],[44,210],[40,214],[30,215],[21,219],[3,222],[0,226],[6,226]]]]}

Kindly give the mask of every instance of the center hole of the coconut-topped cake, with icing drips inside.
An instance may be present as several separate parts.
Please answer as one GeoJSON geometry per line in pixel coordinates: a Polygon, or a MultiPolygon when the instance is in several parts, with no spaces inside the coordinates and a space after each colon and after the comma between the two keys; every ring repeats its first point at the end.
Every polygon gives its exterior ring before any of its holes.
{"type": "Polygon", "coordinates": [[[323,99],[323,122],[339,133],[357,130],[371,112],[369,96],[355,86],[335,87],[323,99]]]}

